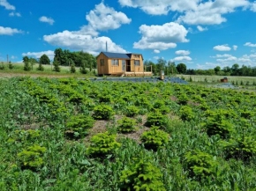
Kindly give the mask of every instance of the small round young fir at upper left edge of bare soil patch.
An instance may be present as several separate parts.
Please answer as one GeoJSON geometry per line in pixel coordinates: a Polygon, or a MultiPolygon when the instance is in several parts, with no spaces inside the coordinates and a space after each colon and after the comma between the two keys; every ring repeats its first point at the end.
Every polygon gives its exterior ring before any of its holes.
{"type": "Polygon", "coordinates": [[[94,114],[93,117],[95,120],[109,120],[113,114],[112,107],[109,107],[107,105],[100,105],[97,107],[94,107],[94,114]]]}

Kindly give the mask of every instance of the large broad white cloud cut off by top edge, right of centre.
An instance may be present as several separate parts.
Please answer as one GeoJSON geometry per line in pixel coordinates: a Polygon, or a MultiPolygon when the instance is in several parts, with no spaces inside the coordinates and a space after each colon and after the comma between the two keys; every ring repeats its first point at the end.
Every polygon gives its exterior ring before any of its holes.
{"type": "MultiPolygon", "coordinates": [[[[122,6],[139,8],[150,15],[167,15],[169,11],[178,12],[178,22],[189,25],[218,25],[225,22],[224,14],[237,8],[247,8],[248,0],[118,0],[122,6]]],[[[254,6],[252,10],[254,10],[254,6]]],[[[255,9],[256,10],[256,9],[255,9]]]]}

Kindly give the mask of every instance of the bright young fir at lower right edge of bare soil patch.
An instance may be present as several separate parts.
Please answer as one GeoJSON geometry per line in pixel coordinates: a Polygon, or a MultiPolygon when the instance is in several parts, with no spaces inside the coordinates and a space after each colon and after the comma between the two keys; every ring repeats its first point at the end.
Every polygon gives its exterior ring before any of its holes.
{"type": "Polygon", "coordinates": [[[168,143],[168,134],[157,127],[153,127],[150,131],[146,131],[142,134],[140,140],[144,143],[147,149],[156,151],[162,148],[164,143],[168,143]]]}

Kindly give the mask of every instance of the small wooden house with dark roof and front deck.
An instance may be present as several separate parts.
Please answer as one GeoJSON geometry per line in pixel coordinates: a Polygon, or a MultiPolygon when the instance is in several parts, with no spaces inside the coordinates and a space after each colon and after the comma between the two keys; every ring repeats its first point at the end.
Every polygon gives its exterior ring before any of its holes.
{"type": "Polygon", "coordinates": [[[143,64],[143,56],[139,54],[123,54],[102,52],[97,57],[98,74],[138,77],[151,76],[152,67],[148,69],[143,64]]]}

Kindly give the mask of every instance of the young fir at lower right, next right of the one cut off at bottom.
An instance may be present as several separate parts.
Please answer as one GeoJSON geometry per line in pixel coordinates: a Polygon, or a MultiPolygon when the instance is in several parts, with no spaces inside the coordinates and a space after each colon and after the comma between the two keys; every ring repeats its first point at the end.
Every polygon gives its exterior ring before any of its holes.
{"type": "Polygon", "coordinates": [[[187,152],[184,161],[190,172],[190,176],[198,179],[214,176],[218,163],[216,158],[201,151],[187,152]]]}

